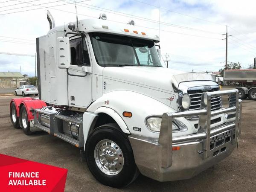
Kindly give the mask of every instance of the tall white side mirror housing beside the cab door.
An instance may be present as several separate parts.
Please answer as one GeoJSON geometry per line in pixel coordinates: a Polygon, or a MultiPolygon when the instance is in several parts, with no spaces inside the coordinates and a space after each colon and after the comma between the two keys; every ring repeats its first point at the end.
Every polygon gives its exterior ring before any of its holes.
{"type": "Polygon", "coordinates": [[[57,63],[58,68],[70,68],[70,41],[68,37],[57,38],[57,63]]]}

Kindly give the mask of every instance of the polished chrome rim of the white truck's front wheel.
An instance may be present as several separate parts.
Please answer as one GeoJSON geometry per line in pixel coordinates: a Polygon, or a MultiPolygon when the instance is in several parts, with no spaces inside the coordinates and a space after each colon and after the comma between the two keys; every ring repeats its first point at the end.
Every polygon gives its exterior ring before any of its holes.
{"type": "Polygon", "coordinates": [[[94,149],[98,168],[107,175],[117,175],[124,166],[121,148],[111,140],[101,140],[94,149]]]}

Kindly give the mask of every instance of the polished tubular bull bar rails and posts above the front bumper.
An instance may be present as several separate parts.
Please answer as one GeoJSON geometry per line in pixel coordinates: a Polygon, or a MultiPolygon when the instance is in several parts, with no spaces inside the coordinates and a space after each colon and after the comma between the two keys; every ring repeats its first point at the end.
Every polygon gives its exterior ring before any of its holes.
{"type": "Polygon", "coordinates": [[[201,107],[199,110],[163,113],[158,140],[158,145],[161,146],[161,167],[168,168],[172,166],[173,143],[189,140],[203,140],[202,158],[207,159],[209,157],[211,135],[215,135],[232,128],[235,128],[235,138],[232,137],[232,144],[235,144],[238,143],[238,136],[241,133],[241,100],[239,99],[239,91],[237,89],[202,93],[201,107]],[[229,107],[211,111],[211,97],[223,95],[229,96],[229,107]],[[209,105],[207,105],[207,103],[209,103],[209,105]],[[221,127],[211,130],[211,116],[222,113],[228,113],[227,123],[221,127]],[[198,133],[182,137],[172,137],[173,118],[186,116],[199,116],[198,133]]]}

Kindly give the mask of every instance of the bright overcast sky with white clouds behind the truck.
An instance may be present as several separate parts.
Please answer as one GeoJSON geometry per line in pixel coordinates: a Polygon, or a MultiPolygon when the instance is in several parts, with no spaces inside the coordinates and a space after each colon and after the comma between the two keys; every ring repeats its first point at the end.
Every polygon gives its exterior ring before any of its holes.
{"type": "MultiPolygon", "coordinates": [[[[0,0],[0,52],[35,55],[35,38],[47,34],[49,30],[47,9],[56,25],[63,25],[76,20],[75,5],[70,4],[72,2],[73,0],[0,0]],[[41,9],[42,6],[52,8],[41,9]],[[36,10],[26,11],[29,9],[36,10]]],[[[108,20],[127,23],[132,19],[135,26],[147,27],[145,32],[151,30],[159,34],[160,18],[162,55],[165,58],[164,55],[168,53],[169,67],[173,69],[218,71],[222,68],[225,61],[225,40],[221,39],[225,36],[221,34],[226,33],[226,25],[228,35],[233,35],[228,38],[228,61],[240,61],[247,68],[256,56],[256,2],[253,0],[76,2],[79,20],[99,17],[103,12],[108,20]]],[[[0,54],[1,72],[19,72],[20,67],[22,74],[34,76],[35,58],[0,54]]]]}

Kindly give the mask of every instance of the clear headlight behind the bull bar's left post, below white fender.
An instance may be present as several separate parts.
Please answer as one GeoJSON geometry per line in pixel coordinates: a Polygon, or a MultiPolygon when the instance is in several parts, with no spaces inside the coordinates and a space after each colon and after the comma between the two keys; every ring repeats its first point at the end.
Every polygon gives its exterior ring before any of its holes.
{"type": "MultiPolygon", "coordinates": [[[[145,118],[145,125],[146,127],[154,133],[160,133],[161,128],[161,122],[162,122],[162,116],[148,116],[145,118]]],[[[177,120],[173,119],[172,121],[172,132],[176,131],[186,131],[188,128],[186,125],[177,120]]]]}

